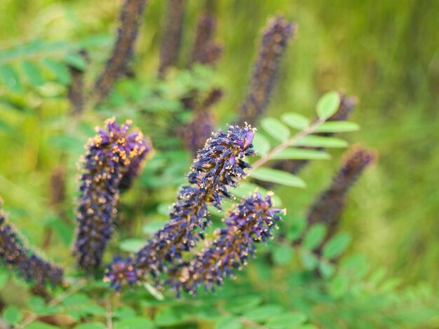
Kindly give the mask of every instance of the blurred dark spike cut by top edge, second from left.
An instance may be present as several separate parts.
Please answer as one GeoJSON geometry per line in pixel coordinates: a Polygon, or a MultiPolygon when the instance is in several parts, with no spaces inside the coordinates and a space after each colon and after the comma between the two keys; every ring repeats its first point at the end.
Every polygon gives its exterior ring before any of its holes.
{"type": "Polygon", "coordinates": [[[165,31],[160,47],[160,66],[158,67],[160,76],[163,76],[169,66],[177,64],[182,39],[185,6],[186,0],[168,0],[165,31]]]}

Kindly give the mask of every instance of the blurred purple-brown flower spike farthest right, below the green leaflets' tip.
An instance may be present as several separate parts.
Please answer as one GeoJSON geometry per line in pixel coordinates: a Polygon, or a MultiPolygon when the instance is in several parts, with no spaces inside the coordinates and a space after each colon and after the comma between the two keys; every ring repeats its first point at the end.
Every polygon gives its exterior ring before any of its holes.
{"type": "Polygon", "coordinates": [[[342,167],[325,192],[318,197],[308,213],[308,223],[325,223],[331,236],[337,220],[344,209],[346,193],[356,182],[363,170],[377,158],[377,155],[363,148],[352,146],[344,155],[342,167]]]}

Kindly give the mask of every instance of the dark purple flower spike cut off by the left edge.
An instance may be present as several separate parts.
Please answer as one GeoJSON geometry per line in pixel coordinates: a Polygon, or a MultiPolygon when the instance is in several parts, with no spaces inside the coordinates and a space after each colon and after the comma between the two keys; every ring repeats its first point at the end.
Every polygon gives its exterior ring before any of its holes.
{"type": "MultiPolygon", "coordinates": [[[[1,207],[1,200],[0,200],[1,207]]],[[[63,271],[60,267],[46,262],[43,258],[29,250],[18,237],[6,216],[0,210],[0,260],[4,265],[16,269],[25,280],[44,287],[47,284],[58,286],[63,282],[63,271]]]]}

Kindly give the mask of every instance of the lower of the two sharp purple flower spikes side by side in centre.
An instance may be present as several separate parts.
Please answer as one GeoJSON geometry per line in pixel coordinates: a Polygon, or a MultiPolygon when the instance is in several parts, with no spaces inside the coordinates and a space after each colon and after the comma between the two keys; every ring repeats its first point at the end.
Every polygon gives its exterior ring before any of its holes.
{"type": "Polygon", "coordinates": [[[226,276],[234,278],[234,269],[247,266],[255,254],[255,243],[272,237],[273,228],[281,221],[285,210],[273,208],[272,193],[262,197],[255,193],[243,199],[225,220],[226,228],[215,232],[212,245],[201,251],[194,260],[177,267],[169,283],[171,288],[196,293],[199,286],[215,290],[226,276]]]}

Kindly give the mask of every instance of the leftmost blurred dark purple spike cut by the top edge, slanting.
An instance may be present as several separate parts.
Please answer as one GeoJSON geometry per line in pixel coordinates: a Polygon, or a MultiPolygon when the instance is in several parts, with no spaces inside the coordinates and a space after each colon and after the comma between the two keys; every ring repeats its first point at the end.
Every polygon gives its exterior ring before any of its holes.
{"type": "Polygon", "coordinates": [[[126,73],[128,63],[133,57],[134,43],[146,2],[146,0],[125,0],[122,5],[120,25],[112,55],[95,83],[97,102],[107,97],[116,80],[126,73]]]}

